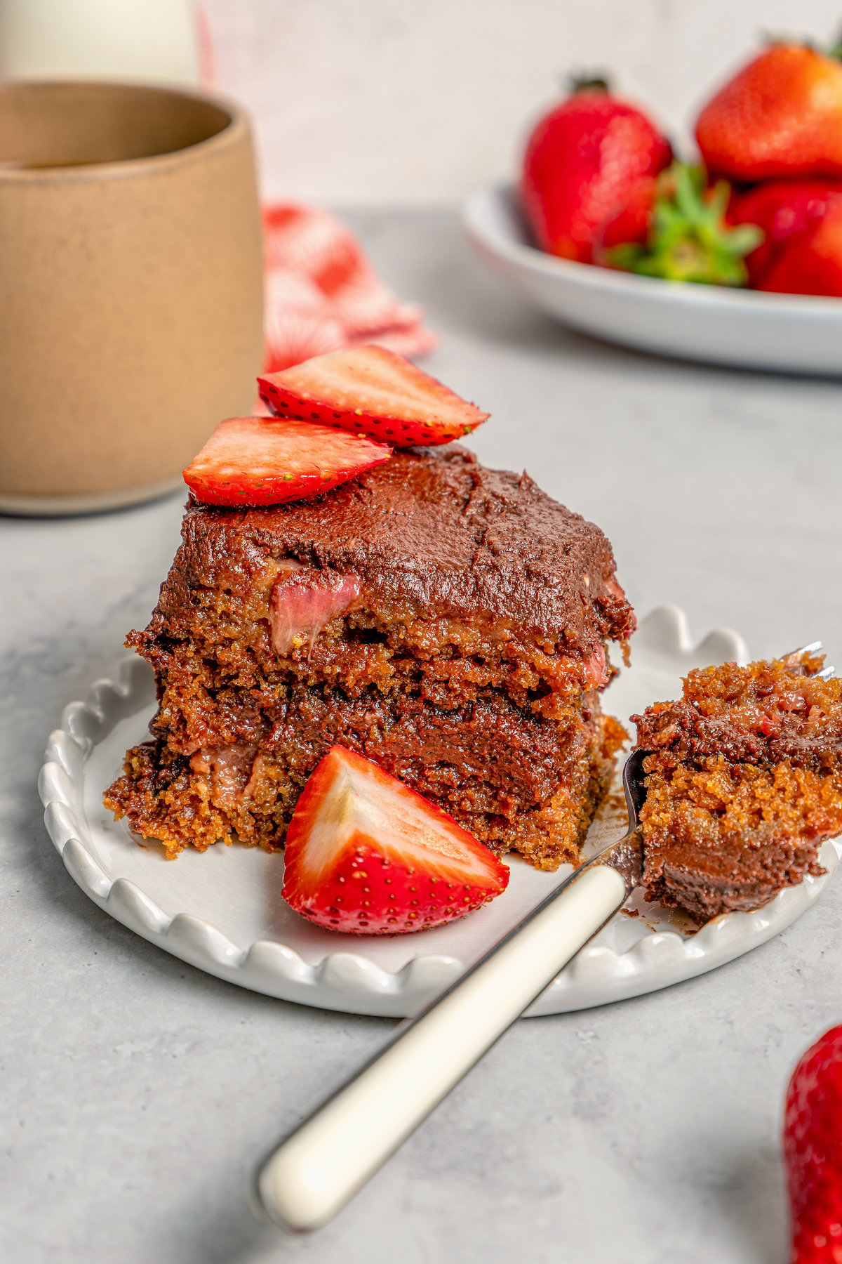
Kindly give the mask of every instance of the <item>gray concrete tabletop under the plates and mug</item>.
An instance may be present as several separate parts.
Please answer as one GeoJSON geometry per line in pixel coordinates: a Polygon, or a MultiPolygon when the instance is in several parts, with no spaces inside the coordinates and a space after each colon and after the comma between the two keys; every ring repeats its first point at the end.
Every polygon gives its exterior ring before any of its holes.
{"type": "MultiPolygon", "coordinates": [[[[823,637],[842,662],[838,384],[566,332],[486,276],[447,214],[352,222],[428,306],[430,372],[492,411],[480,455],[596,520],[639,612],[677,602],[698,635],[731,624],[757,653],[823,637]]],[[[256,1157],[390,1024],[240,991],[111,921],[35,794],[47,733],[145,622],[179,518],[179,498],[0,518],[0,1258],[784,1264],[780,1102],[842,1019],[838,884],[712,975],[521,1023],[317,1236],[252,1217],[256,1157]]]]}

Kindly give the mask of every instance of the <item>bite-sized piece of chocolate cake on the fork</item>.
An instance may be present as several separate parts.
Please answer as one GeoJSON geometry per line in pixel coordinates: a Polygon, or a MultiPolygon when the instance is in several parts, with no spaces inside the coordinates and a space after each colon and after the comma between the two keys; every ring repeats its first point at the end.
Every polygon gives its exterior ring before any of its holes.
{"type": "Polygon", "coordinates": [[[697,921],[756,909],[805,873],[842,832],[842,681],[797,656],[692,671],[678,702],[637,726],[650,900],[697,921]]]}

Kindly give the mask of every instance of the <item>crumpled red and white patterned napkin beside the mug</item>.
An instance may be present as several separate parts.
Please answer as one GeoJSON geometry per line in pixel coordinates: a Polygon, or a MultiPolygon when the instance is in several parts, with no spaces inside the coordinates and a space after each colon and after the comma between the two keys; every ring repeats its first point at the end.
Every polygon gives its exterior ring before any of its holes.
{"type": "Polygon", "coordinates": [[[436,345],[422,308],[398,302],[333,215],[280,202],[264,206],[263,224],[265,372],[362,343],[406,356],[436,345]]]}

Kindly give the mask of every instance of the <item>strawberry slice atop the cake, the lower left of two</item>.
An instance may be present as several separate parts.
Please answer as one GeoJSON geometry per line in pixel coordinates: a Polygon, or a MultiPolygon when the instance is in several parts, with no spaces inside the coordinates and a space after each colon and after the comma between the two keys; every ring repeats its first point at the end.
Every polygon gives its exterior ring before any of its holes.
{"type": "Polygon", "coordinates": [[[327,492],[389,460],[391,449],[327,426],[228,417],[184,470],[206,504],[279,504],[327,492]]]}

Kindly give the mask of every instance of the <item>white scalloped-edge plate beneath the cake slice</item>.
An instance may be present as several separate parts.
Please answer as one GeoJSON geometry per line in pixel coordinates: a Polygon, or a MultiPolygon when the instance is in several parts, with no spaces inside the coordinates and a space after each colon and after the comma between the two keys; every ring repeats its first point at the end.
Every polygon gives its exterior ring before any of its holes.
{"type": "MultiPolygon", "coordinates": [[[[607,691],[606,709],[626,720],[655,699],[674,698],[693,666],[747,661],[744,641],[718,629],[693,645],[682,611],[660,607],[634,638],[634,665],[607,691]]],[[[47,829],[82,890],[111,916],[182,961],[269,996],[355,1014],[403,1016],[418,1010],[477,959],[564,873],[519,860],[500,899],[451,923],[394,938],[336,935],[297,916],[280,899],[283,857],[217,846],[167,861],[140,844],[101,804],[127,746],[141,741],[154,710],[151,672],[127,659],[116,683],[97,681],[86,703],[64,709],[39,779],[47,829]]],[[[588,849],[625,827],[605,813],[588,849]]],[[[732,961],[795,920],[838,863],[826,843],[823,877],[808,877],[755,913],[717,918],[688,933],[680,915],[648,905],[619,913],[538,997],[530,1015],[559,1014],[668,987],[732,961]],[[637,913],[635,916],[634,913],[637,913]]]]}

